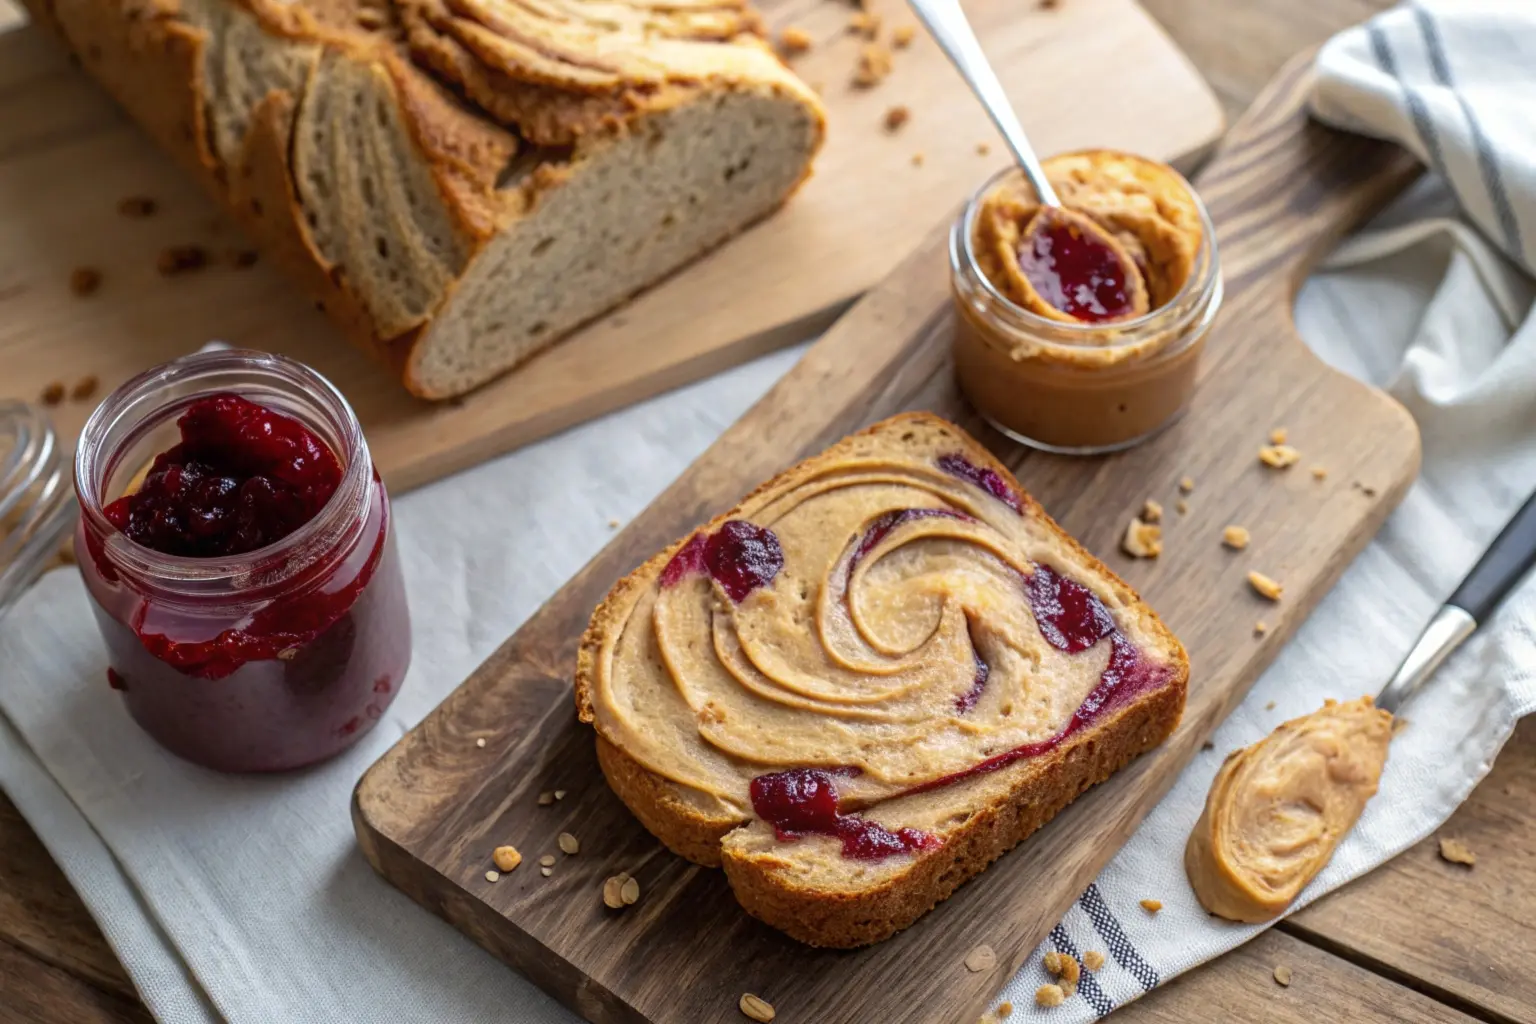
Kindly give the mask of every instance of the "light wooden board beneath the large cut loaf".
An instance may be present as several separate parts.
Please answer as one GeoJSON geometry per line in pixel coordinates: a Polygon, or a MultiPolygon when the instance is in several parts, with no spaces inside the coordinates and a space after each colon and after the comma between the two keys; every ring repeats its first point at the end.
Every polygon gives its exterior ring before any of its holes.
{"type": "MultiPolygon", "coordinates": [[[[3,3],[5,0],[0,0],[3,3]]],[[[1044,152],[1120,146],[1166,158],[1204,152],[1221,112],[1183,54],[1132,0],[972,0],[977,31],[1044,152]]],[[[209,338],[292,355],[356,407],[396,491],[800,341],[888,273],[1003,161],[985,115],[926,37],[879,88],[849,84],[862,40],[846,0],[765,0],[777,28],[817,46],[796,60],[820,84],[831,130],[816,177],[779,215],[674,275],[516,373],[461,402],[429,405],[338,341],[330,322],[269,267],[218,266],[166,279],[155,256],[195,243],[243,247],[233,227],[109,98],[35,28],[0,35],[0,398],[52,381],[103,387],[209,338]],[[897,134],[886,109],[911,109],[897,134]],[[977,146],[989,143],[989,155],[977,146]],[[922,166],[914,157],[922,154],[922,166]],[[121,218],[120,198],[161,212],[121,218]],[[69,275],[103,286],[75,298],[69,275]]],[[[889,26],[899,0],[871,0],[889,26]]],[[[94,402],[58,410],[71,436],[94,402]]]]}

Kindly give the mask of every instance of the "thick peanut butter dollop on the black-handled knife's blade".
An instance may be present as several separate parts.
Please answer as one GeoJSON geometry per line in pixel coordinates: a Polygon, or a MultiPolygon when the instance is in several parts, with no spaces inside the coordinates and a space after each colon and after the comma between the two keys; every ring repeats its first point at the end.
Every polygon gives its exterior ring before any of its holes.
{"type": "Polygon", "coordinates": [[[1232,754],[1184,847],[1201,906],[1232,921],[1279,917],[1375,795],[1390,742],[1392,715],[1361,697],[1232,754]]]}

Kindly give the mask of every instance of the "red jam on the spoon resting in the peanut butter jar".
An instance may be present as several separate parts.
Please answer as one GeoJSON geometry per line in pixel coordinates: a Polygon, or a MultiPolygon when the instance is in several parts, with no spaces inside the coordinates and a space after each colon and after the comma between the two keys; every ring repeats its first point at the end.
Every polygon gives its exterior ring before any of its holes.
{"type": "Polygon", "coordinates": [[[1097,324],[1135,310],[1120,253],[1058,216],[1035,218],[1018,244],[1018,269],[1041,299],[1075,319],[1097,324]]]}

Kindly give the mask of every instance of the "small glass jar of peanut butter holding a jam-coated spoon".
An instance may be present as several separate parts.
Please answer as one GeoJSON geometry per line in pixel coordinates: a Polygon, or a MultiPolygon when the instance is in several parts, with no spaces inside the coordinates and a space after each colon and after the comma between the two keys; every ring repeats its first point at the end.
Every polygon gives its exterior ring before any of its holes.
{"type": "Polygon", "coordinates": [[[949,236],[955,376],[1014,441],[1066,454],[1127,448],[1177,419],[1193,391],[1221,307],[1215,232],[1200,197],[1166,164],[1087,150],[1044,167],[1094,233],[1035,236],[1046,218],[1034,220],[1041,207],[1018,170],[982,186],[949,236]],[[1008,218],[1017,223],[994,223],[1008,218]],[[1092,252],[1094,235],[1112,252],[1092,252]],[[1135,289],[1106,278],[1114,253],[1134,267],[1135,289]],[[1146,296],[1140,312],[1126,301],[1117,316],[1114,299],[1137,290],[1146,296]]]}

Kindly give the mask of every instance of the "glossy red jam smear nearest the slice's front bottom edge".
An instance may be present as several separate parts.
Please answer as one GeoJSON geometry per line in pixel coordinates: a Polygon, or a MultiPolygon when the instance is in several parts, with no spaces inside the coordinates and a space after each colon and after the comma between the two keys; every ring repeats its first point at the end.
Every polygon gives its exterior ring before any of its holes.
{"type": "Polygon", "coordinates": [[[943,840],[920,829],[886,829],[837,809],[837,783],[833,772],[820,768],[791,768],[771,775],[759,775],[751,783],[753,811],[773,824],[782,843],[805,835],[829,835],[842,840],[848,860],[885,860],[900,854],[938,849],[943,840]]]}

